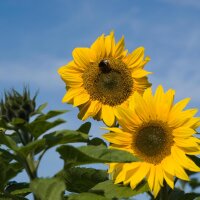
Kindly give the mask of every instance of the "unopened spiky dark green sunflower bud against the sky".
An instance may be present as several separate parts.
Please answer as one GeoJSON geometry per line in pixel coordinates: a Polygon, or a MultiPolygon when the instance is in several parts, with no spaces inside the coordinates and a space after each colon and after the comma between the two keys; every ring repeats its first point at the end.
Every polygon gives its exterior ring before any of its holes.
{"type": "Polygon", "coordinates": [[[29,121],[31,114],[35,111],[35,99],[31,99],[30,91],[26,87],[21,95],[16,90],[4,93],[4,99],[0,102],[0,118],[5,122],[11,122],[15,118],[29,121]]]}

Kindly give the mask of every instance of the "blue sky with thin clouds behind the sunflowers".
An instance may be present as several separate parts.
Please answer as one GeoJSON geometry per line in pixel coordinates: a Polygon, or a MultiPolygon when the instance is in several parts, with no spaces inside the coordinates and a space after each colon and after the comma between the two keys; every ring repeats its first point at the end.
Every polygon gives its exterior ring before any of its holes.
{"type": "MultiPolygon", "coordinates": [[[[63,116],[65,128],[77,128],[82,123],[77,109],[61,103],[65,86],[57,69],[72,59],[75,47],[90,46],[97,36],[114,30],[117,39],[125,36],[129,51],[146,48],[153,88],[174,88],[176,100],[191,97],[190,106],[200,107],[199,19],[198,0],[1,0],[1,91],[29,84],[40,91],[38,104],[70,109],[63,116]]],[[[99,126],[94,122],[93,135],[101,135],[99,126]]],[[[58,160],[49,152],[40,175],[56,172],[58,160]]]]}

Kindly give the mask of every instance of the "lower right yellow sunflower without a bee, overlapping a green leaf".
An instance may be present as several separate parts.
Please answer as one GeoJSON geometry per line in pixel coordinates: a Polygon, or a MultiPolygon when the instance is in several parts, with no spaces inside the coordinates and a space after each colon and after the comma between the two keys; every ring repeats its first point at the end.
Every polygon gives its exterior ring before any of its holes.
{"type": "Polygon", "coordinates": [[[111,163],[109,173],[115,183],[130,184],[134,189],[146,178],[156,197],[164,180],[173,189],[174,177],[189,180],[185,169],[199,172],[200,168],[187,156],[200,153],[199,139],[194,137],[200,118],[197,109],[183,110],[189,98],[174,104],[175,91],[166,93],[159,86],[152,95],[148,88],[143,96],[137,92],[131,109],[118,109],[120,128],[106,128],[111,132],[104,138],[111,148],[131,152],[140,161],[111,163]]]}

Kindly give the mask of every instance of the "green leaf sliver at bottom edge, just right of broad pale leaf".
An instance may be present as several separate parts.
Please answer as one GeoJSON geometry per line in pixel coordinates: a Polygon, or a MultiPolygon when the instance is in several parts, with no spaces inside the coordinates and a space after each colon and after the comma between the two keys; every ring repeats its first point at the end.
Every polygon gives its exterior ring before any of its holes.
{"type": "Polygon", "coordinates": [[[67,200],[111,200],[106,197],[93,194],[93,193],[81,193],[81,194],[72,194],[70,195],[67,200]]]}

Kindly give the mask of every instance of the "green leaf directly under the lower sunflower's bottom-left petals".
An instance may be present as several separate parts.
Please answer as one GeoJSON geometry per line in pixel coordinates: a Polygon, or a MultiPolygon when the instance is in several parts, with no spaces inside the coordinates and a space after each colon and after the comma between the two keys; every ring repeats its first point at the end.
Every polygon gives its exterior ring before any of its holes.
{"type": "Polygon", "coordinates": [[[121,184],[114,184],[113,181],[108,180],[97,184],[93,187],[91,192],[103,194],[107,198],[128,198],[144,192],[149,191],[149,187],[146,183],[139,184],[136,189],[132,190],[128,186],[121,184]]]}

